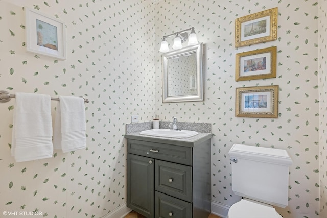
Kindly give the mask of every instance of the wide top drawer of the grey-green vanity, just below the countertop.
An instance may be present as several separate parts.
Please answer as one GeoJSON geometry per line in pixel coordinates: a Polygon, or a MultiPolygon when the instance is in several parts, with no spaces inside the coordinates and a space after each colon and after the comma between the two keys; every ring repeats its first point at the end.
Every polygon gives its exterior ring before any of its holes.
{"type": "Polygon", "coordinates": [[[192,165],[192,148],[190,147],[129,139],[127,140],[127,152],[192,165]]]}

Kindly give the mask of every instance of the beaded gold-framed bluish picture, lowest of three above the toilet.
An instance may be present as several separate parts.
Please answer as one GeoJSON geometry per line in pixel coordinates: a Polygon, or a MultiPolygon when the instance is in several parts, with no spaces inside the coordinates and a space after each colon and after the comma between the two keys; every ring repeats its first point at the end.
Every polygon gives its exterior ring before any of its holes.
{"type": "Polygon", "coordinates": [[[235,115],[278,118],[278,85],[236,88],[235,115]]]}

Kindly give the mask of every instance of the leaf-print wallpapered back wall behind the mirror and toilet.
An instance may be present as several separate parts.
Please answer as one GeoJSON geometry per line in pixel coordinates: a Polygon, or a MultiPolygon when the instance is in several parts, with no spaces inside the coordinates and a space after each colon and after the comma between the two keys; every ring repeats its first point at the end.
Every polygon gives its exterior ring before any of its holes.
{"type": "MultiPolygon", "coordinates": [[[[162,104],[161,66],[156,64],[156,112],[162,119],[176,116],[179,121],[212,123],[212,200],[218,205],[239,200],[231,190],[228,151],[233,143],[244,143],[286,149],[291,156],[289,206],[277,208],[283,217],[318,216],[318,9],[316,1],[305,0],[157,3],[157,49],[162,36],[190,27],[205,44],[205,100],[162,104]],[[278,7],[277,40],[236,49],[235,19],[274,7],[278,7]],[[277,46],[277,77],[235,82],[235,54],[269,46],[277,46]],[[279,85],[279,118],[236,118],[235,88],[265,85],[279,85]]],[[[172,40],[167,40],[170,47],[172,40]]]]}

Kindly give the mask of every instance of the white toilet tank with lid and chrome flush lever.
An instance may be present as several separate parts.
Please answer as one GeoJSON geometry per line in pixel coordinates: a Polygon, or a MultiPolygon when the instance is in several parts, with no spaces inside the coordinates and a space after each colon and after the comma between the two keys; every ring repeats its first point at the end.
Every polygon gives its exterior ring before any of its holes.
{"type": "Polygon", "coordinates": [[[234,144],[229,156],[236,195],[283,208],[288,205],[292,160],[286,150],[234,144]]]}

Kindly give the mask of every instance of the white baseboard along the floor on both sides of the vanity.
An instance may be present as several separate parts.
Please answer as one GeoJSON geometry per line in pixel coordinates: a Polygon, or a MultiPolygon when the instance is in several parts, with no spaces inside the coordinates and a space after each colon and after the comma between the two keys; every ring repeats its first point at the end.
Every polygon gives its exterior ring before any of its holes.
{"type": "MultiPolygon", "coordinates": [[[[221,204],[216,201],[211,201],[211,213],[222,218],[226,218],[228,214],[229,206],[221,204]]],[[[132,210],[126,206],[126,202],[120,207],[117,207],[102,218],[124,218],[132,210]]]]}

